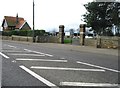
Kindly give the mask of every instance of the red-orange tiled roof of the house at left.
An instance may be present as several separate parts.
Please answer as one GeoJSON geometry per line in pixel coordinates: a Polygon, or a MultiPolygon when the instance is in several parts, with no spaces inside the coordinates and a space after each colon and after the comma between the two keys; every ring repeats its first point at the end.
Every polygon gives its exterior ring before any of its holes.
{"type": "Polygon", "coordinates": [[[24,18],[18,17],[18,23],[17,23],[17,17],[12,17],[12,16],[5,16],[5,20],[8,26],[15,26],[15,28],[20,28],[25,22],[24,18]]]}

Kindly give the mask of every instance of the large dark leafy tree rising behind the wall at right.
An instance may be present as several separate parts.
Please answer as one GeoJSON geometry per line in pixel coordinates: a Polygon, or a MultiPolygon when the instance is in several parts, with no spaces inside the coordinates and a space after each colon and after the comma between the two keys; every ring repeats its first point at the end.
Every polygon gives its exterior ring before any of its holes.
{"type": "Polygon", "coordinates": [[[84,22],[99,35],[111,31],[112,25],[120,25],[120,3],[90,2],[84,5],[88,11],[84,14],[84,22]],[[108,30],[109,28],[109,30],[108,30]]]}

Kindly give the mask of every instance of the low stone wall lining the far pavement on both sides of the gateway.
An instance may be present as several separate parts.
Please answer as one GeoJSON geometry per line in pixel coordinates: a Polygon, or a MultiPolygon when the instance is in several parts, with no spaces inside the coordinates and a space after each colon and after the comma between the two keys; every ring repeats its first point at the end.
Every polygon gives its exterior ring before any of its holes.
{"type": "MultiPolygon", "coordinates": [[[[26,41],[26,42],[33,42],[32,37],[26,36],[2,36],[3,40],[15,40],[15,41],[26,41]]],[[[38,43],[59,43],[59,39],[57,36],[39,36],[36,37],[36,42],[38,43]]],[[[85,46],[93,46],[97,47],[98,39],[95,38],[86,38],[85,39],[85,46]]],[[[120,47],[120,37],[101,37],[100,40],[100,47],[101,48],[114,48],[117,49],[120,47]]]]}

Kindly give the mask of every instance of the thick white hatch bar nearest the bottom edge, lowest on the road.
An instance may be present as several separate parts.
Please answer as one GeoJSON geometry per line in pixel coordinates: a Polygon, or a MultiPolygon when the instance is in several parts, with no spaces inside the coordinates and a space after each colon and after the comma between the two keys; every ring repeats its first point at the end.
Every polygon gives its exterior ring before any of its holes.
{"type": "Polygon", "coordinates": [[[81,87],[117,87],[118,84],[109,83],[83,83],[83,82],[60,82],[61,86],[81,86],[81,87]]]}

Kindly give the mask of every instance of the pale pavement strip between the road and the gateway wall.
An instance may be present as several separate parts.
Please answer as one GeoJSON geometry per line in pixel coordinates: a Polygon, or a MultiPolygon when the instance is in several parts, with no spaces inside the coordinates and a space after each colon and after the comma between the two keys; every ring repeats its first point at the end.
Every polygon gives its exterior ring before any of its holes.
{"type": "Polygon", "coordinates": [[[51,48],[59,47],[61,49],[68,49],[71,51],[83,51],[83,52],[118,56],[118,49],[104,49],[104,48],[96,48],[96,47],[92,47],[92,46],[79,46],[79,45],[56,44],[56,43],[54,43],[54,44],[53,43],[44,43],[44,46],[51,47],[51,48]]]}

